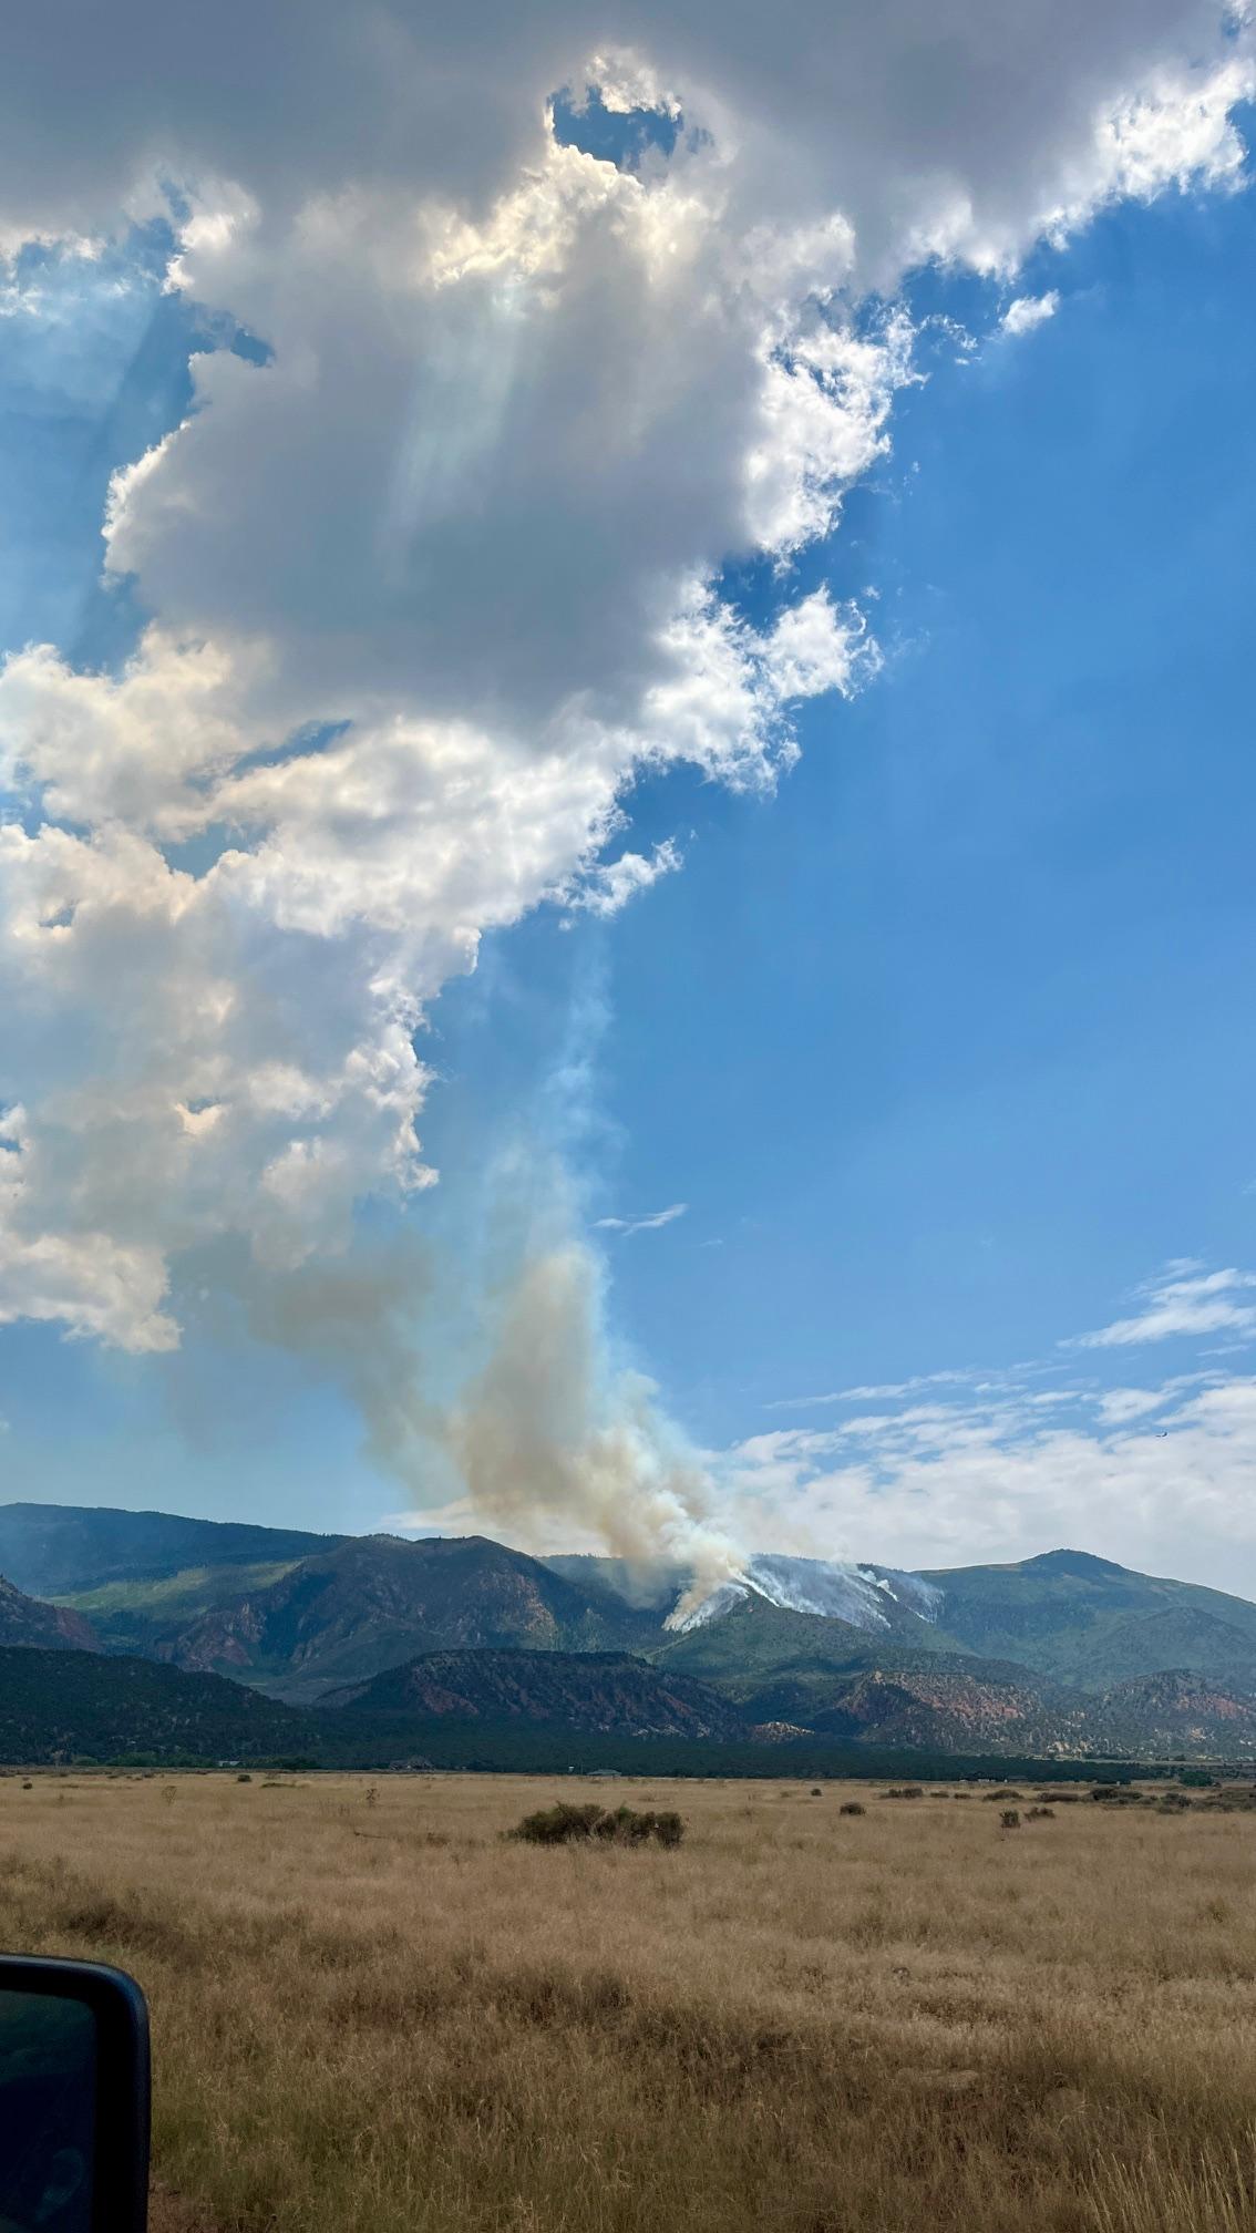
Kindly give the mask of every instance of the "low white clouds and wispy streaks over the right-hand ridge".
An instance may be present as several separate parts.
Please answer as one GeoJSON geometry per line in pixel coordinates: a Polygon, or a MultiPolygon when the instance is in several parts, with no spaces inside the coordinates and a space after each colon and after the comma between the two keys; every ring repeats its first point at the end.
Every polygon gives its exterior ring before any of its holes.
{"type": "Polygon", "coordinates": [[[1138,1317],[1010,1369],[921,1373],[769,1405],[805,1420],[722,1458],[751,1541],[903,1568],[1075,1547],[1256,1594],[1256,1275],[1169,1266],[1138,1317]],[[1218,1355],[1214,1333],[1227,1333],[1218,1355]],[[1173,1371],[1155,1371],[1162,1344],[1173,1371]],[[1077,1351],[1146,1349],[1144,1384],[1077,1371],[1077,1351]]]}

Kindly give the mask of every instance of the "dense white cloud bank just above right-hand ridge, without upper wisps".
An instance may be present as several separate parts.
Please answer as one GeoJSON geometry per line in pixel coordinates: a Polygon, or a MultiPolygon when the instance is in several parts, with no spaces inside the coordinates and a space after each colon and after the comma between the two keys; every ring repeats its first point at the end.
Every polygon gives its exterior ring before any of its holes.
{"type": "Polygon", "coordinates": [[[1256,1378],[1151,1389],[1024,1387],[782,1427],[722,1460],[742,1541],[901,1568],[1073,1545],[1256,1590],[1256,1378]]]}

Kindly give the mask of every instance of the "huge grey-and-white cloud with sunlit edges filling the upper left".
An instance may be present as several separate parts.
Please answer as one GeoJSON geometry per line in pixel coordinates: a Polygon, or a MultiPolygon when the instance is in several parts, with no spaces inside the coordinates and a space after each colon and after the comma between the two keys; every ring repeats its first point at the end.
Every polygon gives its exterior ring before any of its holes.
{"type": "Polygon", "coordinates": [[[874,670],[789,565],[887,447],[903,272],[1236,183],[1249,89],[1209,0],[22,11],[0,241],[161,208],[253,346],[114,478],[127,661],[0,674],[0,1320],[168,1349],[203,1250],[284,1282],[427,1186],[413,1036],[480,936],[612,911],[677,864],[626,849],[641,768],[771,786],[874,670]]]}

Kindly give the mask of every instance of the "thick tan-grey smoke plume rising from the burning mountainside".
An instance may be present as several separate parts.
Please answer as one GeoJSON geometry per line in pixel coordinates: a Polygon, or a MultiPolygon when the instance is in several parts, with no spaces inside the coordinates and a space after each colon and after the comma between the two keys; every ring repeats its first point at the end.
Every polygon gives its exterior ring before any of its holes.
{"type": "MultiPolygon", "coordinates": [[[[518,1161],[512,1179],[525,1190],[518,1161]]],[[[594,1539],[639,1570],[679,1568],[691,1576],[684,1617],[742,1574],[744,1552],[720,1525],[711,1474],[655,1382],[612,1355],[603,1271],[570,1230],[552,1166],[541,1195],[536,1221],[514,1201],[523,1228],[498,1197],[505,1264],[472,1295],[413,1233],[358,1242],[340,1262],[291,1273],[219,1250],[212,1284],[235,1291],[255,1338],[342,1389],[362,1420],[367,1460],[405,1487],[416,1516],[440,1507],[456,1483],[474,1523],[510,1541],[594,1539]],[[451,1311],[476,1326],[485,1362],[440,1400],[429,1351],[451,1311]]]]}

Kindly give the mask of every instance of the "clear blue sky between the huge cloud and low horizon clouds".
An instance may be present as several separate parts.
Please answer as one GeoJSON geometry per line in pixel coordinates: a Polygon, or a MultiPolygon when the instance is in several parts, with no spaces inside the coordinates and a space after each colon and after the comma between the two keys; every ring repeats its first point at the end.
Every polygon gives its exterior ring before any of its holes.
{"type": "Polygon", "coordinates": [[[617,1311],[715,1447],[1256,1255],[1254,255],[1247,197],[1117,212],[1028,275],[1050,324],[943,339],[825,552],[876,587],[881,679],[807,715],[771,804],[646,788],[684,875],[606,929],[539,918],[445,998],[451,1170],[594,1007],[597,1210],[688,1204],[610,1237],[617,1311]]]}

